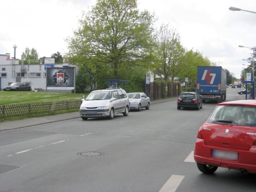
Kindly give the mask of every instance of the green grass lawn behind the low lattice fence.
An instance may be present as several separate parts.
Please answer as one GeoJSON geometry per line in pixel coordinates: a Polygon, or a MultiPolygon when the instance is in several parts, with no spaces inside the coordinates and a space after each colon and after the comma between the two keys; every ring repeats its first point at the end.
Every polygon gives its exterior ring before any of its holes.
{"type": "Polygon", "coordinates": [[[0,91],[0,105],[35,103],[57,100],[77,100],[82,99],[82,95],[84,95],[84,97],[86,98],[88,94],[0,91]]]}

